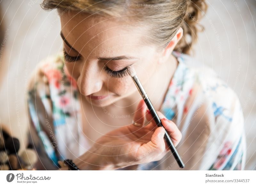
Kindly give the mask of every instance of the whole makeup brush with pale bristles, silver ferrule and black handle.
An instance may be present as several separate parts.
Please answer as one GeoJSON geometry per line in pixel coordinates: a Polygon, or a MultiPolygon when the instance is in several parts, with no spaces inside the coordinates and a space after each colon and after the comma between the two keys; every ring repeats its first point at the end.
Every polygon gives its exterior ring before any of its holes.
{"type": "MultiPolygon", "coordinates": [[[[140,80],[139,80],[138,76],[136,75],[135,69],[131,65],[131,66],[128,66],[126,70],[127,70],[128,74],[132,77],[133,82],[135,83],[136,87],[138,88],[138,90],[140,92],[140,95],[141,95],[142,99],[144,100],[144,102],[146,103],[146,105],[148,107],[148,110],[150,111],[150,113],[151,113],[153,119],[155,120],[157,126],[164,128],[159,116],[156,113],[156,110],[155,110],[154,106],[152,105],[151,101],[148,98],[148,94],[144,90],[143,86],[140,83],[140,80]]],[[[174,145],[172,143],[172,140],[171,140],[171,138],[168,135],[166,130],[165,130],[165,134],[164,134],[164,139],[165,139],[167,145],[169,146],[169,148],[172,152],[172,155],[174,156],[174,158],[177,161],[180,168],[184,168],[185,165],[182,162],[182,160],[180,158],[180,155],[178,154],[176,148],[174,147],[174,145]]]]}

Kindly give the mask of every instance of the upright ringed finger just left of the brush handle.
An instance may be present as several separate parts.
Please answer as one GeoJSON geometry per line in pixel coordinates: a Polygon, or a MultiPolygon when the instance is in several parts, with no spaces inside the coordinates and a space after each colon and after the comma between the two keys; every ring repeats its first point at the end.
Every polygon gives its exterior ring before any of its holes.
{"type": "Polygon", "coordinates": [[[147,106],[146,106],[144,100],[140,100],[140,102],[137,106],[137,110],[133,116],[133,120],[132,120],[133,125],[135,125],[137,127],[143,126],[146,110],[147,110],[147,106]]]}

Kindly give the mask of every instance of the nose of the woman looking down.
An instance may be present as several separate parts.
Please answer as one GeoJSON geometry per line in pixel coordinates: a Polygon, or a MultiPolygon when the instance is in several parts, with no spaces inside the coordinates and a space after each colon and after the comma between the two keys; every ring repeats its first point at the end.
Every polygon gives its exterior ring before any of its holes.
{"type": "Polygon", "coordinates": [[[84,65],[81,68],[80,76],[77,79],[77,85],[82,95],[88,96],[100,92],[103,80],[100,77],[99,69],[96,65],[84,65]]]}

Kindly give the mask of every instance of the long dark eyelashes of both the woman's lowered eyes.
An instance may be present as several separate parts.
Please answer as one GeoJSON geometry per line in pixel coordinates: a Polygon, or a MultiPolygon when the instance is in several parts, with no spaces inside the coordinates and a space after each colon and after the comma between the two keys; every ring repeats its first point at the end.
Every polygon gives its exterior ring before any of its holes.
{"type": "MultiPolygon", "coordinates": [[[[68,53],[65,51],[65,49],[63,49],[63,53],[64,53],[65,61],[68,63],[72,63],[80,60],[80,56],[69,56],[68,53]]],[[[124,78],[125,76],[128,75],[127,67],[125,67],[120,71],[112,71],[111,69],[108,68],[108,66],[104,65],[104,70],[109,76],[113,78],[124,78]]]]}

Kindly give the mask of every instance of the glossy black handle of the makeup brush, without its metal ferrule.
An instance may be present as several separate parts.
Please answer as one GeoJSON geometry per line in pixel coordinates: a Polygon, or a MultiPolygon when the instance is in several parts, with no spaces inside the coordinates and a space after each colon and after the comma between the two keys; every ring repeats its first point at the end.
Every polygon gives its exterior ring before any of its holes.
{"type": "MultiPolygon", "coordinates": [[[[152,105],[151,101],[149,100],[149,98],[148,97],[145,98],[144,102],[146,103],[146,105],[148,107],[148,110],[151,113],[153,119],[155,120],[157,126],[164,128],[164,126],[163,126],[163,124],[162,124],[158,114],[156,113],[156,110],[155,110],[154,106],[152,105]]],[[[180,166],[180,168],[184,168],[185,165],[184,165],[183,161],[181,160],[180,155],[177,152],[176,148],[174,147],[174,145],[172,143],[172,140],[171,140],[171,138],[170,138],[170,136],[169,136],[169,134],[167,133],[166,130],[165,130],[165,134],[164,134],[164,139],[165,139],[167,145],[169,146],[169,148],[170,148],[170,150],[172,152],[172,155],[174,156],[174,158],[177,161],[177,163],[180,166]]]]}

